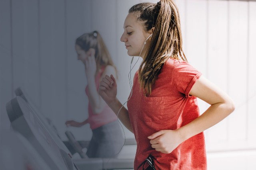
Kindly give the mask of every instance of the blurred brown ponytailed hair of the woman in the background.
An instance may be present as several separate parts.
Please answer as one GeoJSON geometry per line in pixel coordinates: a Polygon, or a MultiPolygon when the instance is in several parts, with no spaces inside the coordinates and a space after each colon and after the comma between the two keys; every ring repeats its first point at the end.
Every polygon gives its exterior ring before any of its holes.
{"type": "Polygon", "coordinates": [[[90,48],[95,49],[96,63],[100,64],[100,66],[111,65],[116,70],[116,66],[114,65],[111,56],[108,52],[108,49],[98,31],[84,33],[76,39],[76,45],[79,45],[81,49],[83,49],[84,51],[88,51],[90,48]]]}

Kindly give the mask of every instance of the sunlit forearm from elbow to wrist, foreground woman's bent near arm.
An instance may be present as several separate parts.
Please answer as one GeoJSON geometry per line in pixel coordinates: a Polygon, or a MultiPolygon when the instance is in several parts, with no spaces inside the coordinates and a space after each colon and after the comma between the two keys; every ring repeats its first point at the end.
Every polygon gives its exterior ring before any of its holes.
{"type": "Polygon", "coordinates": [[[194,121],[177,130],[185,141],[219,123],[233,111],[234,104],[232,102],[213,104],[194,121]]]}

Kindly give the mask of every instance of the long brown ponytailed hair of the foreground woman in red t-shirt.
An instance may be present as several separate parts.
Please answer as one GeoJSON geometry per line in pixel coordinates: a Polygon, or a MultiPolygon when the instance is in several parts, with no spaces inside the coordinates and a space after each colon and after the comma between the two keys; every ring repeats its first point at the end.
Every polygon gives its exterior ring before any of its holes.
{"type": "Polygon", "coordinates": [[[172,0],[136,4],[129,13],[133,13],[142,23],[144,31],[155,27],[149,49],[139,68],[140,86],[144,89],[144,95],[149,96],[152,84],[169,58],[187,62],[182,49],[180,15],[172,0]]]}

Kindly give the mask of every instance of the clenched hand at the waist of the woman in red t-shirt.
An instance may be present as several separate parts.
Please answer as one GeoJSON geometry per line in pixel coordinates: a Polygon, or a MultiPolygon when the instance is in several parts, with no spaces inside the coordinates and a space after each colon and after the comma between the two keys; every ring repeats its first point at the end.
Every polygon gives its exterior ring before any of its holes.
{"type": "Polygon", "coordinates": [[[152,148],[156,151],[169,154],[176,149],[184,140],[178,130],[162,130],[148,137],[152,148]]]}

